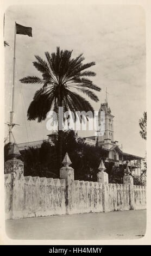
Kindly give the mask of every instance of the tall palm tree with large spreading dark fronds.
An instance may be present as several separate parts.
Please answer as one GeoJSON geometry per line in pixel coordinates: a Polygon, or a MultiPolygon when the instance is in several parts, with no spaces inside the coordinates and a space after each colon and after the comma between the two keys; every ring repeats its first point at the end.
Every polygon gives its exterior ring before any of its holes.
{"type": "MultiPolygon", "coordinates": [[[[98,97],[92,90],[100,91],[100,88],[93,84],[87,77],[96,75],[93,71],[85,71],[95,65],[95,62],[83,64],[83,54],[77,58],[71,58],[72,51],[60,50],[56,48],[56,53],[45,52],[46,60],[39,56],[35,56],[36,62],[33,62],[35,68],[42,73],[42,77],[27,76],[22,78],[22,83],[41,84],[30,103],[27,117],[28,120],[36,120],[41,122],[46,119],[47,112],[51,109],[58,113],[58,108],[63,107],[64,111],[92,111],[93,107],[74,92],[79,92],[89,96],[91,100],[98,101],[98,97]]],[[[62,120],[63,121],[63,120],[62,120]]],[[[62,130],[58,129],[58,156],[59,168],[62,161],[62,130]]]]}

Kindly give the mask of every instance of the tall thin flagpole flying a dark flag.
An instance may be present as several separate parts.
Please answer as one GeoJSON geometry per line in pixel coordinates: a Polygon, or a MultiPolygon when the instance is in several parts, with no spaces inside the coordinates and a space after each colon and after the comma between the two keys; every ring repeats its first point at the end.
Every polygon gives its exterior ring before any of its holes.
{"type": "Polygon", "coordinates": [[[12,104],[10,111],[10,124],[9,124],[9,142],[12,143],[12,127],[14,117],[14,89],[15,89],[15,60],[16,60],[16,22],[15,22],[15,34],[14,34],[14,59],[13,59],[13,78],[12,78],[12,104]]]}

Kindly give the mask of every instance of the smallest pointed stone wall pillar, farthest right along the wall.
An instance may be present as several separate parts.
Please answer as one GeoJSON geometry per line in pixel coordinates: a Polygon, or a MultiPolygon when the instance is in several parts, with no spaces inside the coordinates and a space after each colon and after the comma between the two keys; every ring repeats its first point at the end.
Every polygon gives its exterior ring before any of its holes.
{"type": "Polygon", "coordinates": [[[123,184],[129,185],[130,210],[134,210],[134,182],[133,182],[133,177],[129,174],[130,174],[130,169],[127,164],[127,168],[125,169],[125,175],[123,177],[123,184]]]}

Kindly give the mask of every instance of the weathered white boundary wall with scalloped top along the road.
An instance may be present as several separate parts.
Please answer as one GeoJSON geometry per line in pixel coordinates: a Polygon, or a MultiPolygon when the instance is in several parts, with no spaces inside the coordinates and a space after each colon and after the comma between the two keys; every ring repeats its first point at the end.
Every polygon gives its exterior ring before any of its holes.
{"type": "MultiPolygon", "coordinates": [[[[60,169],[60,179],[23,175],[23,163],[9,160],[5,168],[6,218],[26,218],[146,208],[146,187],[74,180],[71,167],[60,169]]],[[[106,173],[105,173],[106,175],[106,173]]]]}

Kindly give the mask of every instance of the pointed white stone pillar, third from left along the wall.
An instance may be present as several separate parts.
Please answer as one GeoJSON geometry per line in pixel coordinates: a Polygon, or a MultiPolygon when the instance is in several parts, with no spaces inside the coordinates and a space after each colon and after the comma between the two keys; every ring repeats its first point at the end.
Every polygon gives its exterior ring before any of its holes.
{"type": "Polygon", "coordinates": [[[97,173],[97,181],[102,183],[102,201],[103,201],[103,211],[108,211],[108,184],[109,178],[108,173],[105,173],[106,170],[103,161],[100,162],[99,168],[100,172],[97,173]]]}

